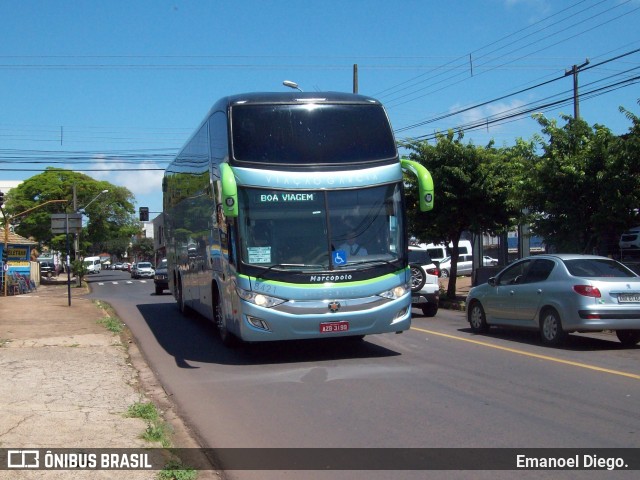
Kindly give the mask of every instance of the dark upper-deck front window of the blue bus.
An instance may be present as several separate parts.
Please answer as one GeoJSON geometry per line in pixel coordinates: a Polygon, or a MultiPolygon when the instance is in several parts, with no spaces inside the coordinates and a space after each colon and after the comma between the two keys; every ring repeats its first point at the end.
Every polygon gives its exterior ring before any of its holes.
{"type": "Polygon", "coordinates": [[[397,156],[377,104],[235,105],[231,129],[236,162],[327,165],[397,156]]]}

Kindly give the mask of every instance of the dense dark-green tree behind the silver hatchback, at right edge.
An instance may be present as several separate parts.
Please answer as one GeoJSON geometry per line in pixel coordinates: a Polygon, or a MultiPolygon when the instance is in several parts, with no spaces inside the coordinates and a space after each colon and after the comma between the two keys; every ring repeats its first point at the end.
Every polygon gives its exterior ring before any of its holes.
{"type": "Polygon", "coordinates": [[[640,200],[637,122],[621,139],[569,116],[562,127],[537,119],[548,139],[537,137],[543,153],[523,188],[532,231],[556,251],[609,253],[640,200]]]}

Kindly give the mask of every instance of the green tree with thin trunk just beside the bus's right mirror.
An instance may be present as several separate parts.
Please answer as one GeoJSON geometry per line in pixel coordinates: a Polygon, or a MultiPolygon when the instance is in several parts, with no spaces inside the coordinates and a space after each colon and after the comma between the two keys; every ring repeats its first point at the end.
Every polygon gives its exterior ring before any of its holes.
{"type": "MultiPolygon", "coordinates": [[[[520,157],[515,152],[533,151],[532,145],[520,142],[519,150],[508,155],[493,144],[483,148],[462,140],[462,132],[449,131],[438,135],[435,145],[426,141],[403,145],[411,151],[409,157],[433,176],[434,209],[421,213],[410,206],[409,230],[425,242],[452,244],[449,298],[455,297],[458,242],[463,232],[498,233],[513,225],[519,215],[514,179],[519,178],[520,157]]],[[[405,181],[409,202],[415,205],[415,184],[409,177],[405,181]]]]}

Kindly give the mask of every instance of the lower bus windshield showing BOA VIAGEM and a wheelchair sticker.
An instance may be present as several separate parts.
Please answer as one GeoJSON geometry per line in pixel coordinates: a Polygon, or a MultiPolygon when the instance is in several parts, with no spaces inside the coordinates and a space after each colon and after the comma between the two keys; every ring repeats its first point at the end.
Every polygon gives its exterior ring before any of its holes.
{"type": "Polygon", "coordinates": [[[353,190],[238,191],[242,262],[303,271],[404,259],[400,184],[353,190]]]}

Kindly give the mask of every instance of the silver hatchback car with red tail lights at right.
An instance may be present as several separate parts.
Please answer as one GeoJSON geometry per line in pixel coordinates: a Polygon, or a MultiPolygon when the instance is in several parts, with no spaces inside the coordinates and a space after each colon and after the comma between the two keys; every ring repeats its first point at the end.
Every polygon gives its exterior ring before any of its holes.
{"type": "Polygon", "coordinates": [[[595,255],[536,255],[507,266],[467,296],[475,332],[490,326],[540,331],[555,345],[569,332],[615,330],[627,346],[640,342],[640,277],[595,255]]]}

